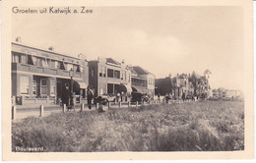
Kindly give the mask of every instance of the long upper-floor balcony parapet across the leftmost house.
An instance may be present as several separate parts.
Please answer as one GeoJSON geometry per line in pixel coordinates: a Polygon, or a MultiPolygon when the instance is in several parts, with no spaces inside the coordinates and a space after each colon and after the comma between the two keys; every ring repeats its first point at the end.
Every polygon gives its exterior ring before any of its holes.
{"type": "MultiPolygon", "coordinates": [[[[12,63],[12,71],[30,72],[34,74],[62,76],[70,78],[70,73],[67,70],[55,69],[55,68],[44,68],[34,65],[27,65],[21,63],[12,63]]],[[[75,78],[84,78],[85,75],[80,72],[74,73],[75,78]]]]}

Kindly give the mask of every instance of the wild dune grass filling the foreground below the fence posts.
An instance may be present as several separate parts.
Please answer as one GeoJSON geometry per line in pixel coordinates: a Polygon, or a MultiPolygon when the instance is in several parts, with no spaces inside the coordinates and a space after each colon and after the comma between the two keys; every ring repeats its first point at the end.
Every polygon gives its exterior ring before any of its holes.
{"type": "Polygon", "coordinates": [[[244,149],[238,101],[204,101],[67,112],[12,124],[12,148],[45,151],[230,151],[244,149]]]}

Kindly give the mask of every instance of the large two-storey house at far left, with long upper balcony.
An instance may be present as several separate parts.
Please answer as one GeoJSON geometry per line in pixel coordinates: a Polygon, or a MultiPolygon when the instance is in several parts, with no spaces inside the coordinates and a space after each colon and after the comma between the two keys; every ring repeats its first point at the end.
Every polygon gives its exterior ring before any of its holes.
{"type": "Polygon", "coordinates": [[[57,104],[62,89],[71,87],[71,78],[77,102],[85,100],[89,82],[86,60],[19,41],[12,42],[11,55],[13,103],[57,104]]]}

